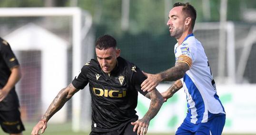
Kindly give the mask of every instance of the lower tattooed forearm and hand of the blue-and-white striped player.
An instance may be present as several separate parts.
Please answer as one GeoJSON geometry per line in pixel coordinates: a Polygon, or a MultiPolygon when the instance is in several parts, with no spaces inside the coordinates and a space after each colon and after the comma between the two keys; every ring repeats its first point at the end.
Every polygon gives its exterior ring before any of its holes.
{"type": "Polygon", "coordinates": [[[176,93],[178,90],[180,90],[183,87],[182,82],[180,80],[175,81],[165,92],[162,92],[161,95],[164,98],[164,101],[166,102],[167,99],[171,98],[174,93],[176,93]]]}

